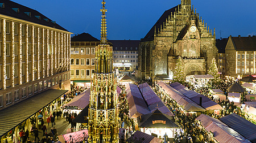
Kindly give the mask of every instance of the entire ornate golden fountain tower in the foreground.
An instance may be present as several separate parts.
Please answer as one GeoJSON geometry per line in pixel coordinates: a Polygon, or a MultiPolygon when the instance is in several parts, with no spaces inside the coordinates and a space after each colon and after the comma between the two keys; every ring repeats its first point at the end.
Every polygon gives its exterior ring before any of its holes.
{"type": "Polygon", "coordinates": [[[89,142],[118,142],[117,80],[113,73],[113,47],[106,38],[106,9],[102,2],[101,42],[96,47],[96,67],[91,80],[89,142]]]}

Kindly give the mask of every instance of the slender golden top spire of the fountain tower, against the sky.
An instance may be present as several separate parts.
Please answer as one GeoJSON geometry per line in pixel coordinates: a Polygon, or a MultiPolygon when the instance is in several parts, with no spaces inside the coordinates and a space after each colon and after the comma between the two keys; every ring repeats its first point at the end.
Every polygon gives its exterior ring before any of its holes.
{"type": "Polygon", "coordinates": [[[101,44],[107,44],[107,32],[106,32],[106,12],[108,12],[108,10],[105,9],[105,4],[106,2],[103,0],[102,3],[102,9],[101,9],[101,12],[102,12],[102,15],[101,15],[101,44]]]}

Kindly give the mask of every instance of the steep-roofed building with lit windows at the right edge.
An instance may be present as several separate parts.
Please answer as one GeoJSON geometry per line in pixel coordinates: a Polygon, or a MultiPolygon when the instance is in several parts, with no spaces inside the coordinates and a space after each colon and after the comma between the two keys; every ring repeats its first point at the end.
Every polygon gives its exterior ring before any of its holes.
{"type": "Polygon", "coordinates": [[[225,47],[226,75],[238,77],[255,74],[256,37],[229,36],[225,47]]]}

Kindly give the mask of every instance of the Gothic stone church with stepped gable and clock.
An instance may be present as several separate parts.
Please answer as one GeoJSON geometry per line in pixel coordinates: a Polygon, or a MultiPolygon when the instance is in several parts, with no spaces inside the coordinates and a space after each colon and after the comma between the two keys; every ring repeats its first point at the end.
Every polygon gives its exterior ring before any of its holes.
{"type": "Polygon", "coordinates": [[[138,77],[173,76],[178,57],[185,64],[185,75],[205,74],[217,57],[215,31],[207,27],[191,0],[164,12],[139,44],[138,77]]]}

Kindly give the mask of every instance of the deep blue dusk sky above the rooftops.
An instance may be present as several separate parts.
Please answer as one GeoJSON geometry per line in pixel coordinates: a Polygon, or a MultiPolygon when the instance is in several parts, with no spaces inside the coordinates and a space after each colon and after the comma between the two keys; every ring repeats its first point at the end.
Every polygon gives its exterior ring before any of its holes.
{"type": "MultiPolygon", "coordinates": [[[[89,33],[100,39],[102,0],[13,0],[56,21],[69,32],[89,33]]],[[[256,35],[255,0],[192,0],[216,38],[256,35]]],[[[109,40],[140,40],[164,11],[180,0],[106,0],[109,40]]]]}

